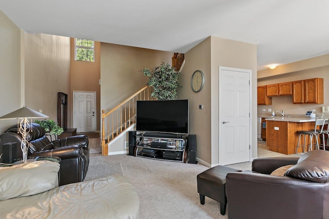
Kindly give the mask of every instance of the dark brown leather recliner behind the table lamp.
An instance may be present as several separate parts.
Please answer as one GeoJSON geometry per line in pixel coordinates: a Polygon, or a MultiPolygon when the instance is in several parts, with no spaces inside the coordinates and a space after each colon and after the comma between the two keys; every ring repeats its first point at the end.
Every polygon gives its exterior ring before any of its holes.
{"type": "MultiPolygon", "coordinates": [[[[89,165],[88,137],[77,135],[50,142],[39,124],[32,123],[31,127],[32,131],[28,134],[28,157],[58,156],[61,158],[60,185],[82,182],[89,165]]],[[[22,158],[22,137],[17,134],[17,125],[1,134],[0,140],[3,144],[16,142],[17,157],[22,158]]]]}

